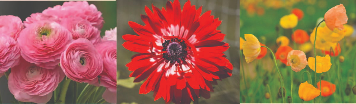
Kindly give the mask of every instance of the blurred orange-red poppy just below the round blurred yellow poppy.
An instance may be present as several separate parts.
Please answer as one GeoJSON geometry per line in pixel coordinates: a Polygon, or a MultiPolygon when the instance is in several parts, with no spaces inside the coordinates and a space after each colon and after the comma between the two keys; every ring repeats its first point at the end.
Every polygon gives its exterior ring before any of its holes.
{"type": "Polygon", "coordinates": [[[309,41],[309,35],[306,31],[297,29],[292,34],[292,40],[300,45],[309,41]]]}

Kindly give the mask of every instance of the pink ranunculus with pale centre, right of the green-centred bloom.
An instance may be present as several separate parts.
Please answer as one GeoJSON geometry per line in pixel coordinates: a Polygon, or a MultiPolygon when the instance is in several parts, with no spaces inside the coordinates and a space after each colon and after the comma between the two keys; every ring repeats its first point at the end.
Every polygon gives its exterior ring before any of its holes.
{"type": "Polygon", "coordinates": [[[91,43],[101,42],[100,30],[91,26],[90,22],[80,17],[69,17],[61,21],[61,25],[66,27],[72,33],[73,39],[87,38],[91,43]]]}

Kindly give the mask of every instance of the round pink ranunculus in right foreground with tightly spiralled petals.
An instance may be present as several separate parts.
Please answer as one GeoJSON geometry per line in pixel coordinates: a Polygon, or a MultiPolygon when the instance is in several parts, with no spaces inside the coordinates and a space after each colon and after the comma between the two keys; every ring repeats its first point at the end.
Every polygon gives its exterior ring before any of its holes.
{"type": "Polygon", "coordinates": [[[86,38],[78,38],[62,53],[61,67],[64,74],[75,82],[93,84],[98,82],[98,76],[103,72],[103,59],[93,43],[86,38]]]}

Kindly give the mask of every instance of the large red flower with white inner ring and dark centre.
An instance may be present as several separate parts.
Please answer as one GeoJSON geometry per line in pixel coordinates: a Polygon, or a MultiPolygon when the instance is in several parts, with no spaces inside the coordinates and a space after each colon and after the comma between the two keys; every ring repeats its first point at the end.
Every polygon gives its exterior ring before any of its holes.
{"type": "Polygon", "coordinates": [[[183,10],[178,0],[167,1],[166,9],[146,6],[147,15],[141,15],[144,26],[136,22],[129,25],[138,35],[123,35],[122,46],[138,52],[126,66],[133,71],[133,82],[147,80],[139,94],[154,92],[155,100],[166,103],[190,103],[200,95],[206,99],[213,92],[211,84],[230,77],[232,64],[223,53],[229,44],[221,42],[225,34],[216,28],[219,19],[211,11],[201,14],[188,0],[183,10]]]}

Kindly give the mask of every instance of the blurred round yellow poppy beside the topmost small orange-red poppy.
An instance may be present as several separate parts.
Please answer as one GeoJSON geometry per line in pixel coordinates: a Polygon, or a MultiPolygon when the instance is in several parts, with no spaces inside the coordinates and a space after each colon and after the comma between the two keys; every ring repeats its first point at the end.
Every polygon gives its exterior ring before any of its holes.
{"type": "Polygon", "coordinates": [[[279,25],[282,28],[290,29],[294,28],[298,24],[298,17],[294,14],[285,15],[279,20],[279,25]]]}

